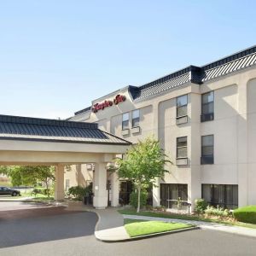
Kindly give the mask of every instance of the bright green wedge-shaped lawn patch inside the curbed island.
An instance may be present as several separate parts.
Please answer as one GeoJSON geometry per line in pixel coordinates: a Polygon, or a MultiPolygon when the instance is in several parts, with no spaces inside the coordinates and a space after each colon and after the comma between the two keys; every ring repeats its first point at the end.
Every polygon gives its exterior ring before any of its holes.
{"type": "Polygon", "coordinates": [[[171,230],[181,230],[190,228],[190,224],[166,223],[163,221],[145,221],[138,219],[125,218],[125,230],[131,237],[143,236],[148,234],[166,232],[171,230]]]}

